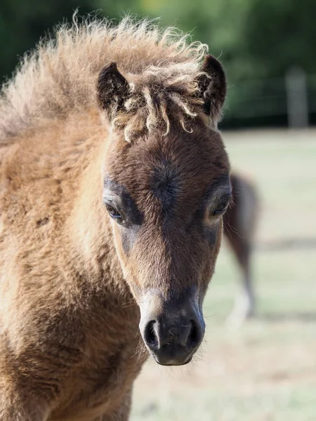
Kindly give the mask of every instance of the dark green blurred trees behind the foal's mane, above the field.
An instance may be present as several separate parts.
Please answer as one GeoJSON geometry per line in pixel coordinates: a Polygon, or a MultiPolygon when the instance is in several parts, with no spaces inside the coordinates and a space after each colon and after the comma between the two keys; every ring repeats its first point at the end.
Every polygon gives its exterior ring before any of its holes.
{"type": "Polygon", "coordinates": [[[308,75],[310,103],[316,99],[315,0],[1,0],[1,82],[76,8],[111,19],[159,16],[208,44],[228,74],[226,127],[286,125],[284,76],[294,65],[308,75]]]}

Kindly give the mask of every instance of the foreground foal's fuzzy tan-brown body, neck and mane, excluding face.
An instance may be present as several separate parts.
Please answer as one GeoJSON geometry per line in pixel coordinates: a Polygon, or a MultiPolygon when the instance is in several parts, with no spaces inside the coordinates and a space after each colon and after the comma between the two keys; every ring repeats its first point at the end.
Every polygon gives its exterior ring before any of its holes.
{"type": "MultiPolygon", "coordinates": [[[[124,130],[125,142],[162,125],[162,135],[169,133],[174,121],[191,131],[201,104],[193,79],[206,48],[187,46],[183,36],[171,33],[129,20],[116,29],[106,22],[63,27],[56,43],[40,46],[4,86],[1,421],[129,417],[133,380],[147,354],[139,350],[139,308],[102,202],[101,168],[114,123],[124,130]],[[129,75],[137,101],[110,126],[111,111],[100,123],[96,83],[112,60],[129,75]],[[152,107],[153,90],[162,91],[157,81],[172,94],[160,98],[159,113],[152,107]]],[[[226,174],[217,105],[211,108],[212,153],[218,173],[226,174]]]]}

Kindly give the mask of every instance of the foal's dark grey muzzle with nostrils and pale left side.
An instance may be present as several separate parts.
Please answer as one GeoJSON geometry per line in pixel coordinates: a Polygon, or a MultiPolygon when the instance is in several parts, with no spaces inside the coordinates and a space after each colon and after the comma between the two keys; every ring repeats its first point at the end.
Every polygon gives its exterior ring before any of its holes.
{"type": "Polygon", "coordinates": [[[204,336],[204,320],[196,303],[164,301],[146,294],[140,305],[140,333],[150,354],[163,366],[190,363],[204,336]]]}

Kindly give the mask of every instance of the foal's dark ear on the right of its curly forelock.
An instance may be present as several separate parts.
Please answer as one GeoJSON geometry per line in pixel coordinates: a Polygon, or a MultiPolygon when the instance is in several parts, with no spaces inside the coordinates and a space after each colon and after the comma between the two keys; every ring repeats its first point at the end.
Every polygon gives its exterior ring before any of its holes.
{"type": "Polygon", "coordinates": [[[203,111],[211,117],[216,126],[221,116],[221,110],[226,97],[225,72],[213,55],[206,55],[201,67],[204,72],[197,81],[199,97],[203,99],[203,111]]]}

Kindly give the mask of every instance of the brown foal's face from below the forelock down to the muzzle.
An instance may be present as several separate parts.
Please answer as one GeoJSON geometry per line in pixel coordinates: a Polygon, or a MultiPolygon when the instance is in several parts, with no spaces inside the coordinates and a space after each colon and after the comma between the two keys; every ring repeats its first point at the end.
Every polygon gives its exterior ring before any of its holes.
{"type": "Polygon", "coordinates": [[[113,136],[103,201],[147,349],[189,362],[204,335],[202,303],[230,203],[228,156],[215,131],[178,128],[126,142],[113,136]]]}

